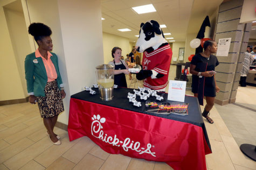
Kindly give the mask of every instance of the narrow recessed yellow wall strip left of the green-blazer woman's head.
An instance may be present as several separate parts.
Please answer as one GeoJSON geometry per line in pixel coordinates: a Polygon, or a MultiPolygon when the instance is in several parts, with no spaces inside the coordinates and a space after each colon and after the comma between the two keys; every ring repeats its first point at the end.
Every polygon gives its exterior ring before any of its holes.
{"type": "MultiPolygon", "coordinates": [[[[20,2],[20,1],[19,1],[20,2]]],[[[21,3],[19,3],[22,11],[21,3]]],[[[19,72],[20,82],[22,83],[23,93],[28,96],[26,90],[24,60],[27,54],[30,54],[29,39],[27,38],[27,28],[23,12],[4,9],[6,22],[8,24],[13,52],[15,54],[17,69],[19,72]]]]}

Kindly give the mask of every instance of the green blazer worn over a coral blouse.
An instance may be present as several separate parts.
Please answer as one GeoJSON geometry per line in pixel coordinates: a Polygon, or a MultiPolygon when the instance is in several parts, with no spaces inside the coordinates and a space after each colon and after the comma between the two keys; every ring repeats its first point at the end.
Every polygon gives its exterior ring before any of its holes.
{"type": "MultiPolygon", "coordinates": [[[[63,83],[59,72],[58,57],[54,53],[51,54],[51,60],[57,72],[57,84],[60,89],[60,84],[63,83]]],[[[34,92],[36,97],[45,97],[44,88],[48,79],[47,73],[43,59],[41,57],[36,58],[35,53],[31,53],[25,58],[25,78],[28,93],[34,92]]]]}

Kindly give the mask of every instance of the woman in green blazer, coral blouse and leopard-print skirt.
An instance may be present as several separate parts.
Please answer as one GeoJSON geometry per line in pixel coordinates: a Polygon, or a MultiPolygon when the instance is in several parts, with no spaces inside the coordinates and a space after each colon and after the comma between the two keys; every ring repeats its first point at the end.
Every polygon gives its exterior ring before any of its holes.
{"type": "Polygon", "coordinates": [[[58,115],[64,111],[66,93],[60,77],[58,57],[51,53],[53,45],[51,28],[42,23],[32,23],[29,34],[37,42],[38,49],[25,58],[25,78],[29,102],[38,104],[47,134],[54,145],[60,145],[60,137],[53,129],[58,115]]]}

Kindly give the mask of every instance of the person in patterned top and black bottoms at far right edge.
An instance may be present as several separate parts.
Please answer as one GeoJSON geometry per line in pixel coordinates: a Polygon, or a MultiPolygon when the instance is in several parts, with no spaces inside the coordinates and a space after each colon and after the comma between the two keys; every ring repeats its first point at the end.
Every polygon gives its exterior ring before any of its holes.
{"type": "Polygon", "coordinates": [[[250,65],[254,61],[254,57],[252,54],[245,52],[245,60],[243,62],[243,68],[241,70],[241,76],[240,76],[240,86],[241,87],[246,87],[246,78],[247,74],[250,70],[250,65]]]}

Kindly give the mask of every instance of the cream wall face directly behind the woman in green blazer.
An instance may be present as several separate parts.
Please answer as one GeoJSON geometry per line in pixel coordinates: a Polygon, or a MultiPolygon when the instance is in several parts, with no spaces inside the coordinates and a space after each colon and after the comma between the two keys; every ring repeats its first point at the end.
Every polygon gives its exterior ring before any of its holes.
{"type": "MultiPolygon", "coordinates": [[[[67,124],[68,122],[68,110],[69,110],[69,102],[70,102],[70,89],[68,85],[67,78],[67,70],[66,70],[66,61],[65,61],[65,53],[63,47],[63,39],[61,35],[61,27],[60,27],[60,19],[59,19],[59,11],[58,11],[58,2],[57,0],[22,0],[22,5],[24,9],[24,16],[26,20],[26,26],[29,27],[31,23],[44,23],[52,29],[52,42],[53,42],[53,53],[57,54],[59,61],[59,69],[60,75],[63,80],[63,84],[65,87],[66,98],[63,100],[65,111],[62,113],[58,121],[67,124]],[[49,5],[51,4],[51,5],[49,5]],[[47,12],[45,8],[42,6],[47,6],[47,12]],[[27,13],[25,13],[27,11],[27,13]]],[[[37,43],[32,40],[32,36],[27,34],[32,41],[31,48],[35,51],[38,46],[37,43]]],[[[75,46],[75,44],[73,45],[75,46]]],[[[32,52],[33,52],[32,51],[32,52]]],[[[71,56],[72,57],[72,56],[71,56]]]]}

